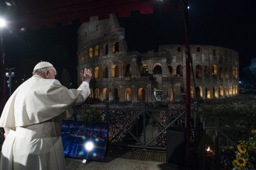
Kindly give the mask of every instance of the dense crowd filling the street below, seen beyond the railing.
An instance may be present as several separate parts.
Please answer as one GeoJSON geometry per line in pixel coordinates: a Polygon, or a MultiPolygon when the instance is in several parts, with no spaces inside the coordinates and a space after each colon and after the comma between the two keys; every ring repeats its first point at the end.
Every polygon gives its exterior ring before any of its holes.
{"type": "MultiPolygon", "coordinates": [[[[198,103],[198,109],[202,110],[206,107],[211,107],[211,108],[216,108],[218,105],[225,104],[225,105],[239,105],[239,104],[246,104],[246,103],[254,103],[256,104],[256,100],[251,99],[251,100],[227,100],[225,102],[211,102],[211,101],[206,101],[202,100],[199,101],[198,103]]],[[[146,104],[147,107],[154,107],[154,103],[152,104],[146,104]]],[[[110,103],[108,108],[108,114],[106,114],[106,104],[104,103],[97,103],[97,104],[88,104],[85,103],[81,105],[80,107],[88,108],[88,107],[95,107],[99,108],[100,111],[102,112],[102,115],[104,116],[104,121],[106,121],[106,116],[108,115],[109,118],[109,140],[112,140],[112,138],[119,133],[119,131],[123,128],[121,123],[123,123],[124,126],[126,126],[137,114],[140,113],[140,110],[126,110],[129,108],[139,108],[141,109],[143,105],[117,105],[110,103]],[[111,114],[114,114],[116,118],[121,121],[119,123],[114,116],[111,114]]],[[[164,106],[163,106],[164,107],[164,106]]],[[[196,103],[191,103],[191,110],[195,110],[197,107],[196,103]]],[[[171,122],[173,122],[180,114],[182,114],[185,111],[186,108],[186,103],[183,101],[180,102],[171,102],[168,104],[168,109],[169,111],[161,111],[160,112],[160,117],[159,117],[159,123],[161,123],[162,126],[157,125],[157,134],[159,134],[163,128],[166,128],[168,125],[170,125],[171,122]]],[[[79,111],[79,108],[76,109],[76,114],[75,116],[72,116],[71,120],[76,120],[80,121],[82,118],[81,111],[79,111]]],[[[141,116],[139,116],[137,119],[140,119],[141,116]]],[[[130,126],[128,127],[128,130],[133,130],[135,127],[135,122],[134,121],[130,126]]],[[[169,127],[185,127],[185,114],[179,117],[173,124],[169,127]]],[[[127,132],[124,130],[122,133],[120,133],[114,140],[113,142],[122,142],[123,139],[125,138],[127,132]]],[[[191,133],[192,137],[191,140],[193,140],[194,132],[191,133]]],[[[164,131],[159,137],[156,139],[156,146],[157,147],[165,147],[166,146],[166,132],[164,131]]]]}

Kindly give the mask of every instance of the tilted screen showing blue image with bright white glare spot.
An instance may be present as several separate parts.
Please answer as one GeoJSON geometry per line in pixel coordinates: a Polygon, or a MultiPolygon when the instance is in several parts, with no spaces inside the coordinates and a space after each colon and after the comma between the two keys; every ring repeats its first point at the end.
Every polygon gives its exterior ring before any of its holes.
{"type": "Polygon", "coordinates": [[[104,161],[108,140],[107,123],[62,121],[62,143],[66,157],[104,161]]]}

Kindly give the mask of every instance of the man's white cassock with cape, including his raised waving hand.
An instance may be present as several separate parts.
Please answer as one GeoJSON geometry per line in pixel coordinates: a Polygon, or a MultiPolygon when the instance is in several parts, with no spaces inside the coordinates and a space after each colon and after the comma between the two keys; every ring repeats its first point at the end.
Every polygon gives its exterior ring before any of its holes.
{"type": "Polygon", "coordinates": [[[0,127],[5,128],[0,170],[64,170],[60,137],[62,118],[73,114],[90,95],[87,82],[67,89],[56,79],[34,75],[7,101],[0,127]]]}

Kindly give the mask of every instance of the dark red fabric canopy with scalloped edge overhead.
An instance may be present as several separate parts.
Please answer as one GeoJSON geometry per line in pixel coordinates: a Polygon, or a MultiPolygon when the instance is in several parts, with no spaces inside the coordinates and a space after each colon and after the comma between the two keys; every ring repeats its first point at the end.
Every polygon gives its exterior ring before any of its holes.
{"type": "Polygon", "coordinates": [[[166,11],[178,10],[179,0],[12,0],[0,3],[9,17],[12,28],[39,29],[90,20],[91,16],[108,19],[109,14],[118,13],[119,17],[130,16],[131,11],[140,10],[143,14],[152,14],[154,7],[163,6],[166,11]]]}

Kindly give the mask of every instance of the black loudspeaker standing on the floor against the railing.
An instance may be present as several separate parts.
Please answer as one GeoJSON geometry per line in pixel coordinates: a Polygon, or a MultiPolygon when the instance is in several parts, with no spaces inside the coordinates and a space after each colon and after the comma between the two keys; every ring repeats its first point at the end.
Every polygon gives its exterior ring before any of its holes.
{"type": "Polygon", "coordinates": [[[171,127],[166,130],[166,161],[186,166],[186,128],[171,127]]]}

